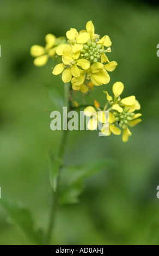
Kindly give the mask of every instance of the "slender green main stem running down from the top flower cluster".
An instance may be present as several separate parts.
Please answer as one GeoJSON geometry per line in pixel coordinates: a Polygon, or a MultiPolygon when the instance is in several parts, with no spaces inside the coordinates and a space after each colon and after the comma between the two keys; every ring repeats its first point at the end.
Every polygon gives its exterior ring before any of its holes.
{"type": "MultiPolygon", "coordinates": [[[[65,97],[64,106],[68,108],[68,112],[70,111],[69,93],[70,93],[70,83],[65,83],[64,84],[64,97],[65,97]]],[[[68,124],[68,117],[65,117],[65,120],[68,124]]],[[[62,137],[61,137],[60,143],[59,143],[59,148],[58,148],[57,155],[56,155],[56,159],[58,159],[58,161],[59,161],[58,172],[63,167],[63,155],[64,155],[64,149],[65,149],[67,135],[68,135],[68,129],[63,130],[62,137]]],[[[59,174],[58,174],[58,179],[57,179],[57,190],[56,190],[56,192],[52,191],[51,211],[50,211],[50,220],[48,223],[48,229],[47,229],[47,234],[46,234],[46,245],[50,245],[50,243],[51,243],[51,236],[53,233],[54,223],[55,223],[55,219],[56,219],[58,184],[59,184],[59,174]]]]}

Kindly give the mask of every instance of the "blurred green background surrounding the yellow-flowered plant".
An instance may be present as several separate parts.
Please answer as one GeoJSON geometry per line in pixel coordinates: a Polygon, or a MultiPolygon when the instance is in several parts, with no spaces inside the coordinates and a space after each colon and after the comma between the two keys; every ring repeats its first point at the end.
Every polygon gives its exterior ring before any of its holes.
{"type": "MultiPolygon", "coordinates": [[[[36,68],[29,50],[44,45],[44,36],[81,30],[92,20],[98,34],[113,42],[110,60],[118,62],[109,86],[125,84],[123,96],[136,95],[142,123],[131,129],[128,143],[121,136],[99,137],[97,132],[72,131],[65,163],[106,157],[112,164],[87,179],[79,203],[60,208],[53,237],[56,245],[158,245],[159,185],[158,97],[159,8],[153,1],[0,2],[0,186],[2,197],[29,208],[37,227],[46,228],[50,183],[46,153],[56,153],[60,132],[50,130],[53,109],[41,83],[52,83],[63,93],[63,83],[52,75],[52,60],[36,68]]],[[[109,89],[111,93],[111,89],[109,89]]],[[[85,97],[86,99],[86,97],[85,97]]],[[[21,229],[9,224],[0,209],[0,244],[30,245],[21,229]]]]}

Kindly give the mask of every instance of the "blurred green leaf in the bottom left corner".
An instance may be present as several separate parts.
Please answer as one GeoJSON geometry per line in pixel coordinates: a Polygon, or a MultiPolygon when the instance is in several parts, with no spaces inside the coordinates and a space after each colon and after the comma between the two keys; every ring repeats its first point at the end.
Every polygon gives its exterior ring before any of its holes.
{"type": "Polygon", "coordinates": [[[6,198],[1,199],[0,204],[7,211],[10,223],[19,225],[28,239],[34,241],[37,245],[42,244],[42,240],[44,239],[42,230],[36,230],[34,228],[33,218],[29,210],[22,208],[20,205],[6,198]]]}

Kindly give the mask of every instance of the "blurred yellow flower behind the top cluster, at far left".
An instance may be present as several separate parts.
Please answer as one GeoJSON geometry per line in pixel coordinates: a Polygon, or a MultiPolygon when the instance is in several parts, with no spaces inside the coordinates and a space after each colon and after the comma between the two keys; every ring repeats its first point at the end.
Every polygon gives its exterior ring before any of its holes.
{"type": "Polygon", "coordinates": [[[47,63],[49,57],[53,57],[56,54],[57,45],[64,41],[64,38],[56,38],[53,34],[47,34],[45,36],[46,45],[42,47],[40,45],[33,45],[30,49],[30,54],[35,57],[35,66],[44,66],[47,63]]]}

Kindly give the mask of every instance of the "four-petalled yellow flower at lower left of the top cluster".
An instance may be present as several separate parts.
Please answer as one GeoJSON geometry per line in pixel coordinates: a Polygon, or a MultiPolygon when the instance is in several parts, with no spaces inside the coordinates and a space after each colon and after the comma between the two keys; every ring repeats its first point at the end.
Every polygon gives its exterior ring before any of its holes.
{"type": "Polygon", "coordinates": [[[76,78],[80,77],[81,69],[79,69],[78,66],[80,66],[82,69],[88,69],[90,66],[87,59],[76,59],[70,45],[66,45],[63,48],[62,61],[63,63],[54,67],[52,73],[53,75],[59,75],[62,73],[62,80],[64,83],[70,82],[72,76],[76,78]]]}

